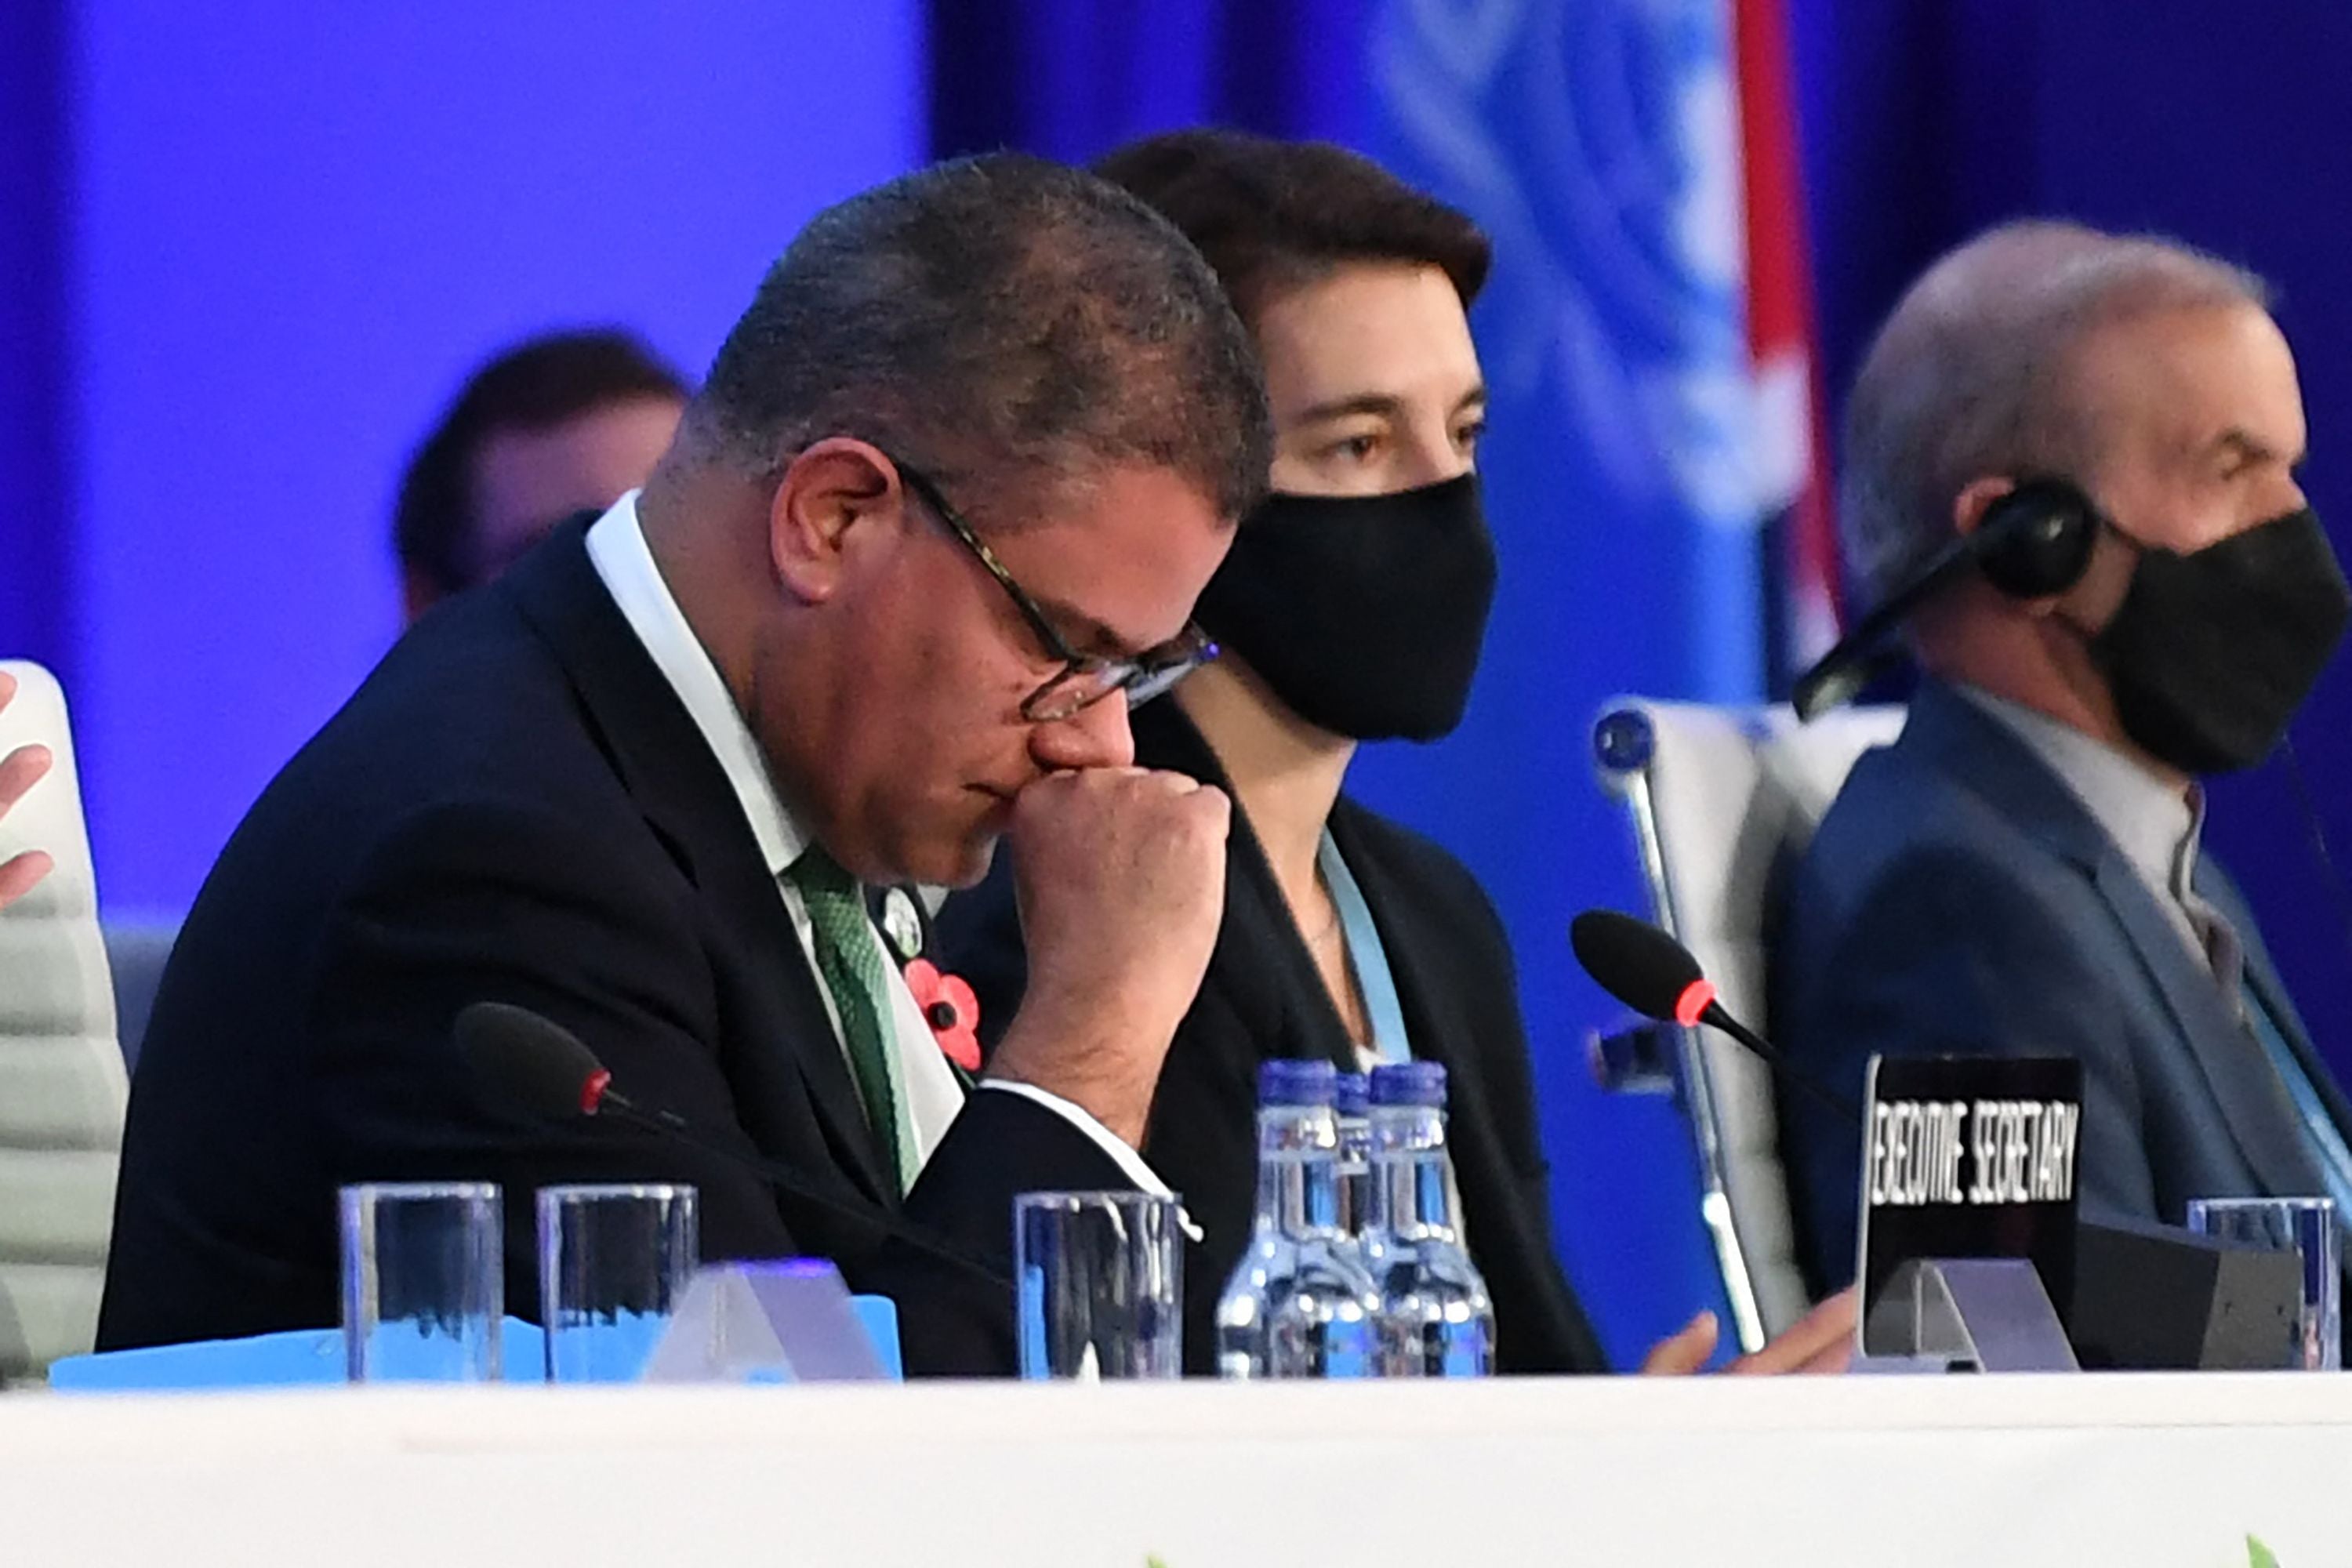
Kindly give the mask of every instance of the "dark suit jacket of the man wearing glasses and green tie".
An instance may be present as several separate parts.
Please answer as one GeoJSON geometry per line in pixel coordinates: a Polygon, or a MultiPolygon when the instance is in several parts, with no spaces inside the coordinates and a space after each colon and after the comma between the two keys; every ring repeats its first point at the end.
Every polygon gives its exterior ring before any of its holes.
{"type": "MultiPolygon", "coordinates": [[[[503,1182],[532,1314],[532,1192],[663,1178],[701,1190],[708,1258],[826,1255],[896,1295],[910,1371],[1009,1371],[1004,1288],[675,1143],[522,1121],[459,1058],[466,1004],[536,1009],[635,1100],[901,1208],[743,809],[581,536],[414,628],[207,877],[132,1084],[103,1349],[334,1324],[334,1194],[362,1180],[503,1182]]],[[[906,1215],[1002,1260],[1014,1192],[1117,1185],[983,1091],[906,1215]]]]}

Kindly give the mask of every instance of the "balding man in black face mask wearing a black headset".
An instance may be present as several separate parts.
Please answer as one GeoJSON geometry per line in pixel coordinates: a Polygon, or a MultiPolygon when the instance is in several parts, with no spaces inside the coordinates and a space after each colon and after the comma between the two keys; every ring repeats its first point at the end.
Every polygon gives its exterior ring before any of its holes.
{"type": "MultiPolygon", "coordinates": [[[[2039,597],[1964,571],[1912,614],[1924,679],[1797,867],[1773,1030],[1856,1095],[1872,1051],[2082,1058],[2091,1218],[2246,1194],[2352,1213],[2352,1107],[2199,853],[2199,776],[2267,757],[2345,630],[2303,451],[2260,280],[2070,223],[1938,261],[1846,407],[1865,588],[1891,597],[2051,475],[2089,557],[2039,597]]],[[[1842,1284],[1856,1131],[1790,1105],[1783,1150],[1818,1284],[1842,1284]]]]}

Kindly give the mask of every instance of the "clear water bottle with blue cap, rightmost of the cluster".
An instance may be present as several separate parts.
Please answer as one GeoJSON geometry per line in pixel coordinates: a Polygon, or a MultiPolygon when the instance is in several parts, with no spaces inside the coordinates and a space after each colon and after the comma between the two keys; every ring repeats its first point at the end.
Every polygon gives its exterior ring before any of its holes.
{"type": "Polygon", "coordinates": [[[1494,1300],[1461,1239],[1446,1157],[1446,1070],[1371,1070],[1371,1213],[1364,1267],[1381,1291],[1383,1378],[1484,1378],[1494,1371],[1494,1300]]]}

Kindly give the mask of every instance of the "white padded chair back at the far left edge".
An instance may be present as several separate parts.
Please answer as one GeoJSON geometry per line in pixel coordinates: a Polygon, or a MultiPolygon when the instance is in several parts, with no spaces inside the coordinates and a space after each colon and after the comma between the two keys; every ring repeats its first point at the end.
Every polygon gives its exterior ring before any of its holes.
{"type": "Polygon", "coordinates": [[[0,1380],[16,1380],[96,1333],[129,1084],[66,693],[35,663],[0,670],[16,677],[0,757],[33,741],[56,757],[0,816],[0,860],[24,849],[56,860],[0,910],[0,1380]]]}

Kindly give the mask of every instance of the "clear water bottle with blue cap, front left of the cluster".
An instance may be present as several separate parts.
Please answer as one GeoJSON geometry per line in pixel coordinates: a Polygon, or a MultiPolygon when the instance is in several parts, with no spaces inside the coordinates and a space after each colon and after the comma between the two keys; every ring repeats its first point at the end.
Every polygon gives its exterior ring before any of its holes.
{"type": "Polygon", "coordinates": [[[1369,1378],[1381,1293],[1338,1229],[1338,1072],[1258,1067],[1258,1220],[1216,1300],[1223,1378],[1369,1378]]]}

